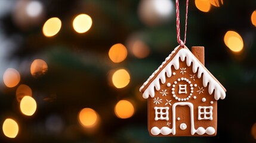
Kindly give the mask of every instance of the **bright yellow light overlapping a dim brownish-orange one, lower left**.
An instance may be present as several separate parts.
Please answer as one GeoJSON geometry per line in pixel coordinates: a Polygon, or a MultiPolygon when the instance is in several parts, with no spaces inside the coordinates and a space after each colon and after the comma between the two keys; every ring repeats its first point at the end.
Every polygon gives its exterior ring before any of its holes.
{"type": "Polygon", "coordinates": [[[20,111],[26,116],[32,116],[36,111],[36,101],[34,98],[24,96],[20,101],[20,111]]]}

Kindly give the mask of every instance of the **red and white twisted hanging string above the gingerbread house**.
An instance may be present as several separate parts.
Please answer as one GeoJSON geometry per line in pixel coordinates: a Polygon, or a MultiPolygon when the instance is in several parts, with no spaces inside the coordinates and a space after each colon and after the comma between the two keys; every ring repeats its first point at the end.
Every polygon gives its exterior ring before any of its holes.
{"type": "Polygon", "coordinates": [[[177,41],[180,43],[181,47],[184,47],[187,38],[187,13],[189,11],[189,0],[186,0],[186,21],[185,21],[185,32],[184,41],[180,39],[180,7],[178,5],[179,0],[176,0],[176,27],[177,27],[177,41]]]}

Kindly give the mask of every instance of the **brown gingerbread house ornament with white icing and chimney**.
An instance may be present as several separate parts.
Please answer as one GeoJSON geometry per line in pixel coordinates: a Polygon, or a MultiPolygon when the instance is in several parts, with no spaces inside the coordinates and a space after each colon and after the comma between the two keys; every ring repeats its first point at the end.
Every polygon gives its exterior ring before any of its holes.
{"type": "Polygon", "coordinates": [[[226,89],[204,66],[204,48],[177,46],[141,86],[152,136],[215,136],[226,89]]]}

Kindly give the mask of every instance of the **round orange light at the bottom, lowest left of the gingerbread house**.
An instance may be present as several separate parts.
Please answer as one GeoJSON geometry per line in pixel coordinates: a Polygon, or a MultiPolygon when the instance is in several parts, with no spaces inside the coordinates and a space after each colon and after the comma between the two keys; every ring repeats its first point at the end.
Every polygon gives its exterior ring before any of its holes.
{"type": "Polygon", "coordinates": [[[85,128],[92,128],[98,123],[98,114],[91,108],[83,108],[78,115],[79,123],[85,128]]]}

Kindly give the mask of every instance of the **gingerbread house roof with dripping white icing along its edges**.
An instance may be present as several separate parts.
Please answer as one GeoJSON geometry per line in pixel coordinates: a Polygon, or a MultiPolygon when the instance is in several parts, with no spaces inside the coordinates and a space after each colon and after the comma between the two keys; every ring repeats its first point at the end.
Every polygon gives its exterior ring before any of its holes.
{"type": "Polygon", "coordinates": [[[169,54],[167,58],[165,58],[165,61],[161,64],[161,66],[158,67],[158,69],[147,79],[146,82],[143,83],[143,85],[140,87],[140,92],[143,92],[143,98],[149,98],[155,97],[155,90],[160,90],[160,80],[161,83],[164,84],[166,82],[166,76],[171,77],[172,71],[171,66],[174,66],[175,70],[178,70],[180,68],[180,62],[186,60],[187,66],[192,67],[193,73],[196,73],[198,71],[198,78],[201,78],[203,80],[203,86],[206,88],[206,86],[209,83],[208,92],[210,95],[214,92],[214,98],[215,100],[223,100],[226,97],[226,89],[221,85],[220,82],[218,82],[217,79],[215,79],[214,76],[205,68],[205,66],[202,65],[202,63],[195,57],[195,55],[192,54],[192,52],[189,51],[189,49],[184,46],[184,48],[180,48],[180,45],[178,45],[174,51],[169,54]],[[176,55],[173,57],[172,55],[176,55]],[[171,57],[173,57],[171,59],[171,57]],[[203,75],[202,75],[203,74],[203,75]],[[150,81],[152,80],[152,81],[150,81]]]}

